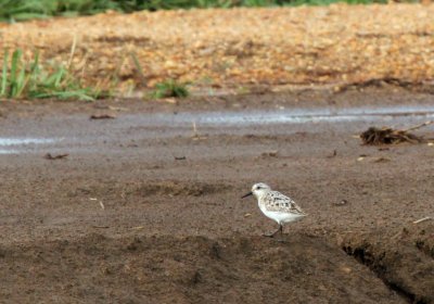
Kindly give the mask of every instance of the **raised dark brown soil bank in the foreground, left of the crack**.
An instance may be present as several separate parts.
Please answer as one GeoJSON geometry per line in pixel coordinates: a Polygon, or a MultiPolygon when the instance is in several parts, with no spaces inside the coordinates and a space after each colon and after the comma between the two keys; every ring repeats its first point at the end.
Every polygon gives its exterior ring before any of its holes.
{"type": "Polygon", "coordinates": [[[399,303],[365,266],[303,233],[209,239],[92,233],[1,250],[1,299],[35,303],[399,303]],[[30,283],[31,282],[31,283],[30,283]],[[20,292],[17,286],[21,286],[20,292]]]}

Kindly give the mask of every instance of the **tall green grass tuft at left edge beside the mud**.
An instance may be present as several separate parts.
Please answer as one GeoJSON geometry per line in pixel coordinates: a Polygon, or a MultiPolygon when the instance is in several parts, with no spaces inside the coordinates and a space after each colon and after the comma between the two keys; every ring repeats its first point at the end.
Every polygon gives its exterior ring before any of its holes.
{"type": "Polygon", "coordinates": [[[10,54],[4,51],[0,75],[2,99],[78,99],[92,101],[101,97],[100,91],[84,87],[79,79],[63,64],[42,66],[39,54],[26,62],[21,50],[10,54]]]}

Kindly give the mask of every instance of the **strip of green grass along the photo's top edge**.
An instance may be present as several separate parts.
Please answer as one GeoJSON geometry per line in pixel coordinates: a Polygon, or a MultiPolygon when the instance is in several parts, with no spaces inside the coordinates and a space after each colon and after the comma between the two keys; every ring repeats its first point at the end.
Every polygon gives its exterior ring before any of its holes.
{"type": "MultiPolygon", "coordinates": [[[[405,0],[416,2],[416,0],[405,0]]],[[[91,15],[115,10],[130,13],[141,10],[190,8],[328,5],[335,2],[350,4],[386,3],[386,0],[0,0],[0,21],[15,22],[50,16],[91,15]]]]}

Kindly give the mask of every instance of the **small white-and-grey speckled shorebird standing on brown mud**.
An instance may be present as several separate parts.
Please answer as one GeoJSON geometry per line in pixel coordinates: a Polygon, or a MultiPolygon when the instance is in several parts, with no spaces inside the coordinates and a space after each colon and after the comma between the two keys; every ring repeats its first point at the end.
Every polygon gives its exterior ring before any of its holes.
{"type": "Polygon", "coordinates": [[[241,199],[252,194],[258,200],[260,211],[279,224],[279,229],[272,233],[264,233],[266,237],[272,238],[279,231],[282,236],[284,224],[299,220],[307,215],[293,200],[278,191],[272,191],[264,182],[253,185],[252,191],[241,199]]]}

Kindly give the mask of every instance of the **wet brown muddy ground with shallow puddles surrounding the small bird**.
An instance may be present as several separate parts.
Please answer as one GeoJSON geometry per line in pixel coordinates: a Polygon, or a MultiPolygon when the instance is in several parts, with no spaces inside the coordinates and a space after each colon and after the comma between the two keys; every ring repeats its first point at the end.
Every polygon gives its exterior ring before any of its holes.
{"type": "Polygon", "coordinates": [[[34,141],[1,147],[0,301],[434,303],[434,221],[413,224],[434,216],[434,148],[354,137],[431,119],[433,101],[381,86],[3,102],[2,140],[34,141]],[[240,200],[257,181],[309,214],[284,242],[240,200]]]}

